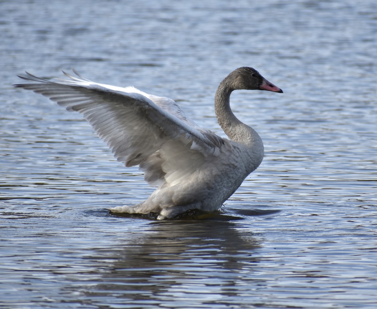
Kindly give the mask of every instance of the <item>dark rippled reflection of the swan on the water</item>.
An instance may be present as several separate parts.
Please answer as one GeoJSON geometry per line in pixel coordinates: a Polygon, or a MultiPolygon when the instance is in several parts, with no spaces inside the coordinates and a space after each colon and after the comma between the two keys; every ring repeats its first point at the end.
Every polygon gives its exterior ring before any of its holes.
{"type": "Polygon", "coordinates": [[[150,222],[150,230],[138,238],[123,234],[122,248],[111,257],[102,250],[89,257],[93,263],[109,258],[114,262],[102,266],[101,283],[85,294],[111,292],[144,304],[168,295],[185,303],[212,294],[234,295],[234,286],[251,280],[250,271],[257,263],[253,252],[260,246],[250,230],[236,230],[236,225],[218,220],[150,222]]]}

